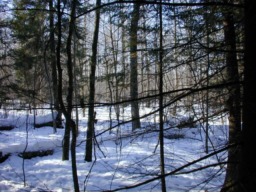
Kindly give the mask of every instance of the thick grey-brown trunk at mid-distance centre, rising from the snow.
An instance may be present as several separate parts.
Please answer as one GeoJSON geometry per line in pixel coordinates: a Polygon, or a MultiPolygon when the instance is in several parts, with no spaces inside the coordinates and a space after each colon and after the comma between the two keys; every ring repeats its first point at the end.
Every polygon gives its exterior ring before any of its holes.
{"type": "MultiPolygon", "coordinates": [[[[132,20],[130,26],[130,97],[131,99],[138,98],[138,56],[137,56],[137,31],[138,21],[140,16],[140,5],[134,5],[132,12],[132,20]]],[[[132,131],[140,128],[140,114],[139,114],[139,102],[131,102],[132,113],[132,131]]]]}

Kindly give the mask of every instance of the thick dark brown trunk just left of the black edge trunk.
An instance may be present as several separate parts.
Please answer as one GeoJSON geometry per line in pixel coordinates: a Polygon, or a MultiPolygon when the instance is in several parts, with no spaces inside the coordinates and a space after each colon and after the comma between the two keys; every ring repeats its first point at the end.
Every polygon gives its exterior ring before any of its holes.
{"type": "MultiPolygon", "coordinates": [[[[236,58],[236,34],[234,27],[234,18],[232,12],[225,11],[224,18],[224,40],[227,50],[226,53],[226,69],[228,82],[239,82],[238,62],[236,58]]],[[[229,120],[229,144],[240,142],[241,132],[241,109],[240,109],[240,84],[234,84],[228,87],[229,97],[226,102],[228,108],[229,120]]],[[[240,148],[235,146],[228,149],[228,164],[226,169],[226,178],[222,191],[236,192],[238,191],[238,158],[240,148]]]]}

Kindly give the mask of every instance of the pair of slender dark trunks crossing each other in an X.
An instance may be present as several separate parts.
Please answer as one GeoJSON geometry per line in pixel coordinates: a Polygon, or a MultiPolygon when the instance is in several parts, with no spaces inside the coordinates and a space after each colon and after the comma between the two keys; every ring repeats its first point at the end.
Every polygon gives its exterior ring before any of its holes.
{"type": "MultiPolygon", "coordinates": [[[[72,53],[71,53],[71,42],[72,34],[74,30],[74,16],[76,13],[76,0],[72,2],[70,21],[68,28],[68,38],[66,46],[66,56],[67,56],[67,72],[68,72],[68,96],[67,100],[67,110],[64,106],[62,99],[62,68],[60,63],[60,48],[61,48],[61,15],[60,10],[60,0],[57,2],[57,12],[58,12],[58,44],[56,48],[56,61],[58,69],[58,99],[60,102],[60,108],[66,118],[66,127],[64,133],[64,141],[62,146],[62,160],[69,159],[69,142],[70,142],[70,127],[72,128],[72,140],[71,140],[71,158],[72,158],[72,176],[74,182],[75,192],[79,192],[78,176],[76,171],[76,124],[71,118],[72,112],[72,94],[73,94],[73,73],[72,73],[72,53]]],[[[65,7],[65,5],[64,5],[65,7]]]]}

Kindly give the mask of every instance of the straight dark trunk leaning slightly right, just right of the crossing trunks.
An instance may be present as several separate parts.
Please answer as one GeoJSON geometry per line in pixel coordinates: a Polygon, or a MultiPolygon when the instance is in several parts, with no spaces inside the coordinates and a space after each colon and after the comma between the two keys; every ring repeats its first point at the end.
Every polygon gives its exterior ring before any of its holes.
{"type": "MultiPolygon", "coordinates": [[[[100,6],[101,0],[96,1],[96,7],[100,6]]],[[[100,9],[95,11],[94,37],[92,42],[92,58],[90,63],[90,91],[89,91],[89,107],[88,107],[88,125],[86,136],[86,154],[84,160],[92,161],[92,137],[93,137],[93,117],[94,117],[94,95],[95,95],[95,71],[97,63],[97,45],[100,25],[100,9]]]]}

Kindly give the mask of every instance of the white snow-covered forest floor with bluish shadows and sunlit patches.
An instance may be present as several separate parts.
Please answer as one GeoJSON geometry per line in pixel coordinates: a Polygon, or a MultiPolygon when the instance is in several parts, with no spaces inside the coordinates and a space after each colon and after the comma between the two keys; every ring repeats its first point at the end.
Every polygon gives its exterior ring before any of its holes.
{"type": "MultiPolygon", "coordinates": [[[[158,141],[157,128],[154,118],[141,120],[143,128],[138,132],[131,131],[131,124],[120,126],[120,132],[114,128],[111,132],[104,132],[109,128],[108,108],[96,109],[98,123],[95,124],[97,141],[102,152],[95,147],[93,162],[84,161],[86,142],[87,117],[79,113],[80,134],[76,147],[77,174],[81,191],[104,191],[132,186],[145,180],[155,178],[160,174],[160,146],[156,153],[153,151],[158,141]],[[104,158],[106,156],[106,158],[104,158]],[[94,162],[94,160],[96,161],[94,162]]],[[[126,108],[124,120],[129,119],[130,109],[126,108]]],[[[150,112],[150,109],[141,110],[141,114],[150,112]]],[[[0,116],[3,114],[1,111],[0,116]]],[[[113,112],[114,114],[114,112],[113,112]]],[[[112,116],[115,119],[115,116],[112,116]]],[[[51,114],[45,110],[36,116],[36,123],[51,120],[51,114]]],[[[120,117],[123,120],[123,117],[120,117]]],[[[158,118],[156,118],[156,121],[158,118]]],[[[15,126],[10,131],[0,131],[0,152],[11,154],[0,164],[0,191],[72,191],[72,166],[70,160],[62,161],[62,138],[64,129],[53,133],[52,127],[33,129],[34,116],[26,112],[10,111],[8,118],[0,118],[0,126],[15,126]],[[28,130],[28,131],[27,131],[28,130]],[[27,147],[26,147],[27,145],[27,147]],[[54,150],[49,156],[35,157],[24,160],[24,187],[23,159],[18,156],[26,148],[28,151],[54,150]]],[[[121,121],[120,121],[121,122],[121,121]]],[[[113,125],[117,122],[113,120],[113,125]]],[[[165,128],[168,125],[165,124],[165,128]]],[[[171,172],[189,162],[206,156],[204,152],[204,130],[202,126],[196,128],[172,128],[165,134],[183,134],[184,138],[164,139],[165,172],[171,172]]],[[[227,126],[218,121],[210,126],[210,152],[223,147],[227,140],[227,126]]],[[[219,191],[219,186],[225,178],[224,169],[220,166],[207,167],[226,158],[226,152],[188,166],[177,173],[166,177],[168,192],[183,191],[219,191]],[[196,172],[192,170],[201,169],[196,172]]],[[[126,190],[122,190],[126,191],[126,190]]],[[[128,191],[161,191],[161,181],[154,180],[148,184],[129,189],[128,191]]]]}

